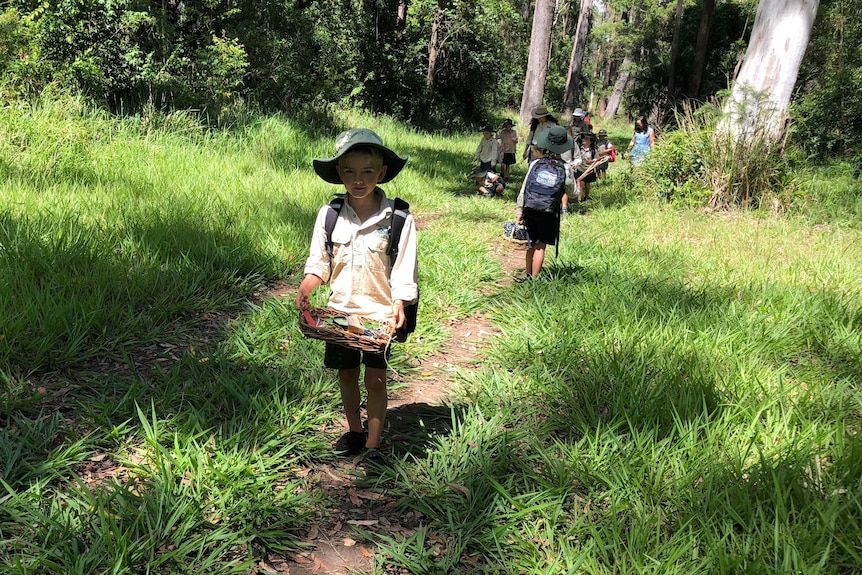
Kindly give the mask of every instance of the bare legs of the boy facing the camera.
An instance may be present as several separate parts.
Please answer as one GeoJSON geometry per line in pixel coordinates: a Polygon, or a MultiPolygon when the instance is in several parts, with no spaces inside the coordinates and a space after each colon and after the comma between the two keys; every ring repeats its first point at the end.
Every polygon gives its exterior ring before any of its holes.
{"type": "MultiPolygon", "coordinates": [[[[359,414],[361,395],[359,392],[359,367],[342,369],[338,372],[338,385],[341,388],[341,403],[350,431],[362,433],[362,418],[359,414]]],[[[386,370],[365,368],[365,389],[368,392],[366,411],[368,412],[368,439],[366,447],[380,447],[383,424],[386,422],[386,370]]]]}

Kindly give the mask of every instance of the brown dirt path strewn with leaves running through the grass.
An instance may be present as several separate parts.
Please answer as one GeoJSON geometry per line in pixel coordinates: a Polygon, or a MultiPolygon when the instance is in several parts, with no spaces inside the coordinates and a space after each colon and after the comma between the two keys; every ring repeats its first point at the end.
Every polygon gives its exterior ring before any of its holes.
{"type": "MultiPolygon", "coordinates": [[[[503,285],[506,285],[512,281],[516,269],[523,269],[523,245],[501,241],[495,244],[493,254],[503,266],[503,285]]],[[[295,289],[282,287],[285,291],[295,289]]],[[[287,297],[279,291],[276,289],[271,295],[287,297]]],[[[448,430],[451,411],[447,400],[457,371],[477,367],[483,358],[482,349],[499,335],[481,315],[453,319],[447,327],[449,337],[439,350],[425,358],[417,369],[393,378],[396,385],[390,392],[385,437],[396,454],[409,451],[421,456],[429,435],[448,430]],[[423,425],[419,425],[420,420],[423,425]],[[421,433],[417,433],[419,430],[421,433]]],[[[316,464],[299,474],[308,479],[311,490],[322,490],[333,507],[326,517],[319,517],[309,526],[303,539],[309,546],[306,551],[293,553],[286,559],[270,555],[258,563],[258,573],[370,573],[376,549],[361,541],[363,532],[374,531],[400,539],[412,535],[424,522],[421,514],[415,512],[396,513],[396,501],[385,492],[360,488],[365,471],[358,460],[316,464]]],[[[428,537],[443,544],[433,533],[428,537]]]]}

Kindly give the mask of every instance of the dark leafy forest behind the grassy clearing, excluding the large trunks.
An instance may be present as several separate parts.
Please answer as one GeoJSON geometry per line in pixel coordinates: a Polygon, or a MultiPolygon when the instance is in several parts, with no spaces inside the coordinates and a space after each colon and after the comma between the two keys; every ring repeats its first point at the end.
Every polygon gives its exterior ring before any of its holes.
{"type": "MultiPolygon", "coordinates": [[[[473,128],[518,108],[533,17],[529,0],[2,5],[6,101],[64,88],[117,113],[194,110],[220,126],[252,112],[296,117],[338,105],[430,131],[473,128]]],[[[559,0],[553,13],[544,93],[558,111],[583,6],[559,0]]],[[[757,2],[608,0],[588,7],[583,64],[572,86],[577,105],[603,117],[616,87],[628,118],[647,114],[670,127],[683,105],[726,93],[757,2]]],[[[792,134],[807,154],[860,154],[860,44],[862,3],[821,2],[792,108],[792,134]]],[[[610,112],[620,108],[614,103],[610,112]]]]}

